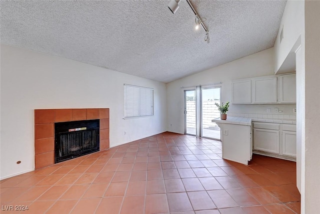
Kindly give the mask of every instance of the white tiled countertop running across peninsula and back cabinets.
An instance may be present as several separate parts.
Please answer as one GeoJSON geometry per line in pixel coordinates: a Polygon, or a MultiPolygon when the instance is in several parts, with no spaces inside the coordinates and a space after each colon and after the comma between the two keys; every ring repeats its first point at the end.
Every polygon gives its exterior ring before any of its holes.
{"type": "Polygon", "coordinates": [[[211,120],[215,123],[229,123],[250,126],[251,122],[265,122],[265,123],[283,123],[283,124],[296,124],[295,120],[292,119],[267,119],[267,118],[248,118],[248,117],[231,117],[227,116],[226,120],[215,118],[211,120]]]}

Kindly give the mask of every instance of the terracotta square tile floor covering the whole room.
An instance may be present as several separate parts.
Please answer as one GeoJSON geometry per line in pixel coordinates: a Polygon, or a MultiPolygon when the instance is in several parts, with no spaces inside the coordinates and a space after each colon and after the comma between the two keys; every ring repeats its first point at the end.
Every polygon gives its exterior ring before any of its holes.
{"type": "Polygon", "coordinates": [[[295,162],[246,166],[223,160],[219,141],[165,132],[1,180],[1,213],[299,213],[295,173],[295,162]]]}

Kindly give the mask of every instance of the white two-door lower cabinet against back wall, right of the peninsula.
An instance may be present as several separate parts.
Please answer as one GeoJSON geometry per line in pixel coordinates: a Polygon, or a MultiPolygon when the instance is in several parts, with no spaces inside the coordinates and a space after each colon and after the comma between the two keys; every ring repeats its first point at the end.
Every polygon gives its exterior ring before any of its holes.
{"type": "Polygon", "coordinates": [[[295,124],[253,122],[253,150],[270,156],[296,156],[295,124]]]}

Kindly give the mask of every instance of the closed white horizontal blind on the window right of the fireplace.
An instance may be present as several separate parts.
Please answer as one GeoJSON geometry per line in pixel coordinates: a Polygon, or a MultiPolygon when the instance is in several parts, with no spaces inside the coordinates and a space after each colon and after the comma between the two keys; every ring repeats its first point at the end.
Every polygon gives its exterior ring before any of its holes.
{"type": "Polygon", "coordinates": [[[124,84],[124,118],[153,115],[153,88],[124,84]]]}

